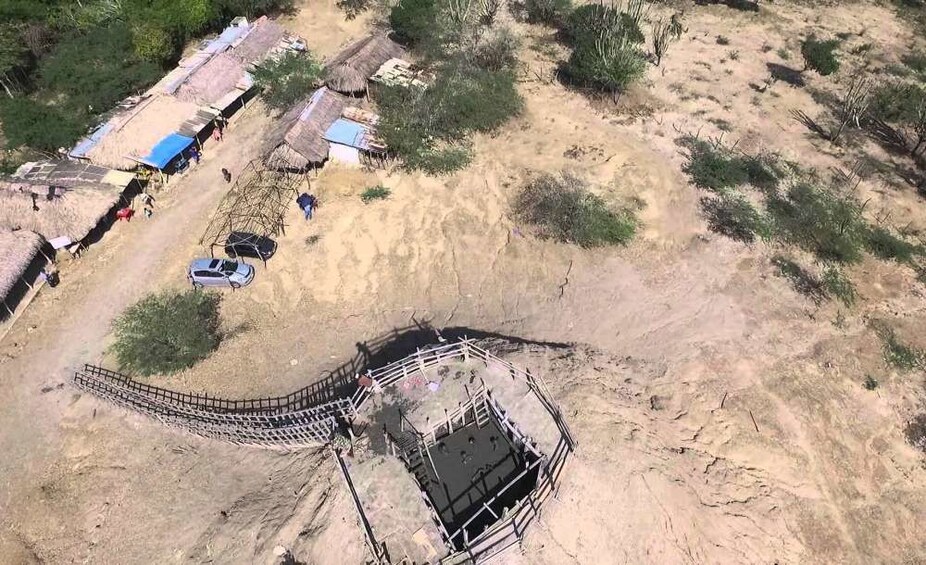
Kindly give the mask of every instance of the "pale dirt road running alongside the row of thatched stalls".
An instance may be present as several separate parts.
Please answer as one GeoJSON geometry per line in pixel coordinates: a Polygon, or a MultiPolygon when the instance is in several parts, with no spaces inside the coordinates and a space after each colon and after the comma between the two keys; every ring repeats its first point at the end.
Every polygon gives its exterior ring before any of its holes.
{"type": "Polygon", "coordinates": [[[151,219],[139,214],[116,224],[86,257],[66,265],[61,285],[44,289],[0,342],[0,516],[10,515],[4,506],[20,481],[47,468],[62,447],[61,422],[73,390],[60,385],[75,367],[103,354],[122,310],[161,284],[185,281],[183,266],[231,186],[221,169],[237,174],[257,156],[262,114],[252,107],[222,142],[207,145],[202,162],[158,197],[151,219]]]}

